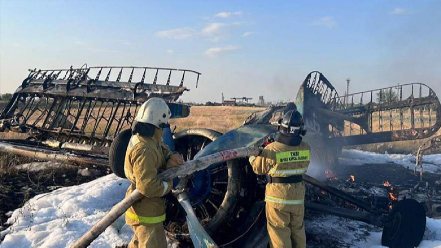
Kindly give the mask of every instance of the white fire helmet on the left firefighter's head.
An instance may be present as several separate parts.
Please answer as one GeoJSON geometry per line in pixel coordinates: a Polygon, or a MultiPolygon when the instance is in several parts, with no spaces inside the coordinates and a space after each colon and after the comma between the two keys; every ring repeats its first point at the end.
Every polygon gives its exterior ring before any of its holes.
{"type": "Polygon", "coordinates": [[[170,117],[170,109],[164,99],[150,98],[139,108],[135,121],[149,123],[157,128],[163,128],[170,117]]]}

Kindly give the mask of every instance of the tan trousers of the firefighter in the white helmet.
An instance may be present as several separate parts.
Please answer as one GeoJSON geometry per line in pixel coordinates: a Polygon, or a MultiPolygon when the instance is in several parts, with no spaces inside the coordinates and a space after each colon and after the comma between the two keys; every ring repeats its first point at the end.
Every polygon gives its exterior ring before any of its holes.
{"type": "Polygon", "coordinates": [[[163,222],[136,224],[131,225],[130,228],[135,234],[127,248],[167,248],[163,222]]]}

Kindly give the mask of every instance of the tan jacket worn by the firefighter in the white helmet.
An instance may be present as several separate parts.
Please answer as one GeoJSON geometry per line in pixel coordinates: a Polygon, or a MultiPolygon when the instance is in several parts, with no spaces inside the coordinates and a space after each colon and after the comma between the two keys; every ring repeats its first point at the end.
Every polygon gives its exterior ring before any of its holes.
{"type": "Polygon", "coordinates": [[[152,137],[133,135],[127,147],[124,173],[132,183],[126,197],[136,187],[145,197],[136,202],[126,212],[126,223],[154,224],[165,220],[165,200],[161,197],[170,192],[171,182],[163,182],[157,177],[165,169],[172,152],[162,142],[162,130],[156,129],[152,137]]]}

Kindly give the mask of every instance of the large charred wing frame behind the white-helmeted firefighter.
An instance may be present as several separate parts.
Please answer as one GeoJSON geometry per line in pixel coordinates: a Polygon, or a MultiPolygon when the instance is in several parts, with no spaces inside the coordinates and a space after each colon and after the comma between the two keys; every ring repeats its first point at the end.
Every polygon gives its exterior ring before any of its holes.
{"type": "Polygon", "coordinates": [[[158,67],[30,70],[0,114],[0,129],[36,140],[109,147],[119,132],[131,128],[138,106],[151,97],[170,102],[172,118],[188,116],[188,106],[171,102],[189,90],[187,78],[197,86],[200,75],[158,67]],[[178,85],[171,85],[172,79],[178,85]]]}

